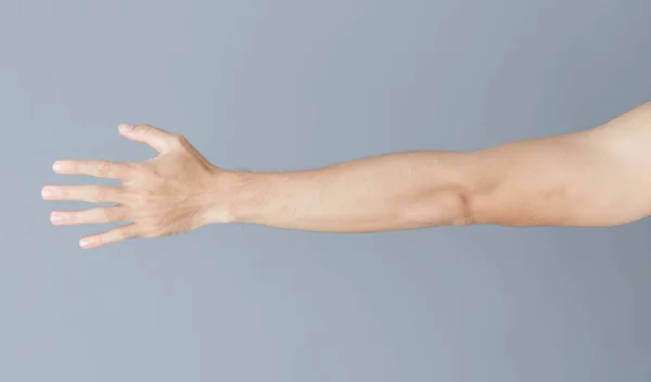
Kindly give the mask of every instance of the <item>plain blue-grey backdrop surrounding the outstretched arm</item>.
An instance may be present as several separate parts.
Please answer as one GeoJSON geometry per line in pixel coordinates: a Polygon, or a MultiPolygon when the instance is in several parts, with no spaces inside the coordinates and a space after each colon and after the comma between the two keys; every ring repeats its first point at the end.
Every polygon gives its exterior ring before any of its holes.
{"type": "MultiPolygon", "coordinates": [[[[150,123],[281,170],[585,129],[651,100],[647,0],[0,3],[1,381],[649,381],[651,221],[82,251],[56,158],[150,123]]],[[[650,142],[651,144],[651,142],[650,142]]]]}

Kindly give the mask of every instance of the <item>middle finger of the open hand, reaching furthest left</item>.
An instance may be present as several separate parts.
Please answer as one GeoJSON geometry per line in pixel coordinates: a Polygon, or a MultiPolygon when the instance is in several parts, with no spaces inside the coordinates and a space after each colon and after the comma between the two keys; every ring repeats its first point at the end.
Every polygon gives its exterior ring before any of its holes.
{"type": "Polygon", "coordinates": [[[119,187],[85,184],[85,186],[47,186],[41,195],[49,201],[81,201],[91,203],[123,202],[119,187]]]}

